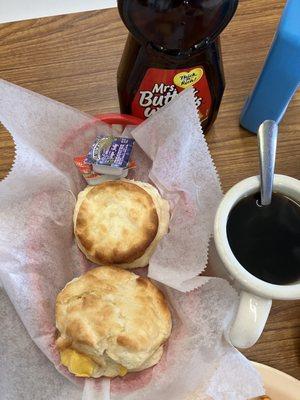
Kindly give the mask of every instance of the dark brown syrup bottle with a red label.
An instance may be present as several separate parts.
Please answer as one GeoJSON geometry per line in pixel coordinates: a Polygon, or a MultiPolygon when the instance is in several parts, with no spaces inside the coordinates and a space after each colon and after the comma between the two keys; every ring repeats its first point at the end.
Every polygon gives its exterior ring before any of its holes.
{"type": "Polygon", "coordinates": [[[238,0],[118,0],[129,30],[118,69],[122,113],[145,119],[193,86],[204,133],[224,92],[219,35],[238,0]]]}

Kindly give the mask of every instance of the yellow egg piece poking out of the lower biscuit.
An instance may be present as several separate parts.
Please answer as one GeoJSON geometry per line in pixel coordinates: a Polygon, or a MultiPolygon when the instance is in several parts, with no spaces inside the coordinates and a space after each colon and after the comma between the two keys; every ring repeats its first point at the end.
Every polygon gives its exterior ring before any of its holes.
{"type": "Polygon", "coordinates": [[[88,356],[70,348],[60,352],[60,361],[72,374],[84,378],[92,376],[97,365],[88,356]]]}

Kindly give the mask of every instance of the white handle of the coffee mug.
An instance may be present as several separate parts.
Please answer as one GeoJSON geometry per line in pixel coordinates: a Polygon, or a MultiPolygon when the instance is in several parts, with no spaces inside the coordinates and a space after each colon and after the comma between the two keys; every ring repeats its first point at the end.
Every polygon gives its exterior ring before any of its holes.
{"type": "Polygon", "coordinates": [[[246,349],[259,339],[268,319],[272,300],[241,291],[240,304],[229,332],[234,347],[246,349]]]}

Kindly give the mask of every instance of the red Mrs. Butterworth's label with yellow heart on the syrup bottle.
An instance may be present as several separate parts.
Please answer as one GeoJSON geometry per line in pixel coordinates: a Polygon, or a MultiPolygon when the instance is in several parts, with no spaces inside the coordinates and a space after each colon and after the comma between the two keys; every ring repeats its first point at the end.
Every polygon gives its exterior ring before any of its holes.
{"type": "Polygon", "coordinates": [[[206,74],[201,66],[187,69],[149,68],[133,99],[132,114],[148,118],[191,86],[194,88],[200,119],[204,121],[209,116],[212,100],[206,74]]]}

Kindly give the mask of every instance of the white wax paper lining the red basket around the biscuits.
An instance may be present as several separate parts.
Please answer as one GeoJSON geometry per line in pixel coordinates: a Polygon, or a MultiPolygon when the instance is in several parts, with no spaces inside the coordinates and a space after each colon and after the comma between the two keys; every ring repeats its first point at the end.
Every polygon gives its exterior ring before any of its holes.
{"type": "MultiPolygon", "coordinates": [[[[184,92],[132,132],[153,160],[151,165],[137,147],[136,175],[147,179],[149,174],[172,204],[170,233],[152,258],[149,273],[168,285],[161,286],[174,327],[158,365],[111,381],[73,378],[59,364],[54,346],[56,295],[92,266],[73,238],[72,214],[84,183],[72,160],[87,151],[97,132],[110,128],[1,80],[0,121],[16,144],[13,170],[0,182],[0,280],[32,340],[59,372],[82,387],[82,398],[243,400],[263,393],[254,368],[224,339],[237,305],[235,291],[222,279],[197,277],[206,264],[221,190],[192,93],[184,92]]],[[[53,399],[55,383],[47,376],[30,392],[26,368],[18,368],[20,343],[14,325],[6,326],[5,335],[16,357],[9,358],[9,365],[1,362],[0,374],[9,369],[23,381],[17,388],[4,382],[5,399],[16,398],[16,391],[20,399],[53,399]]],[[[28,364],[35,362],[32,352],[28,364]]],[[[56,393],[55,400],[71,398],[67,392],[56,393]]]]}

